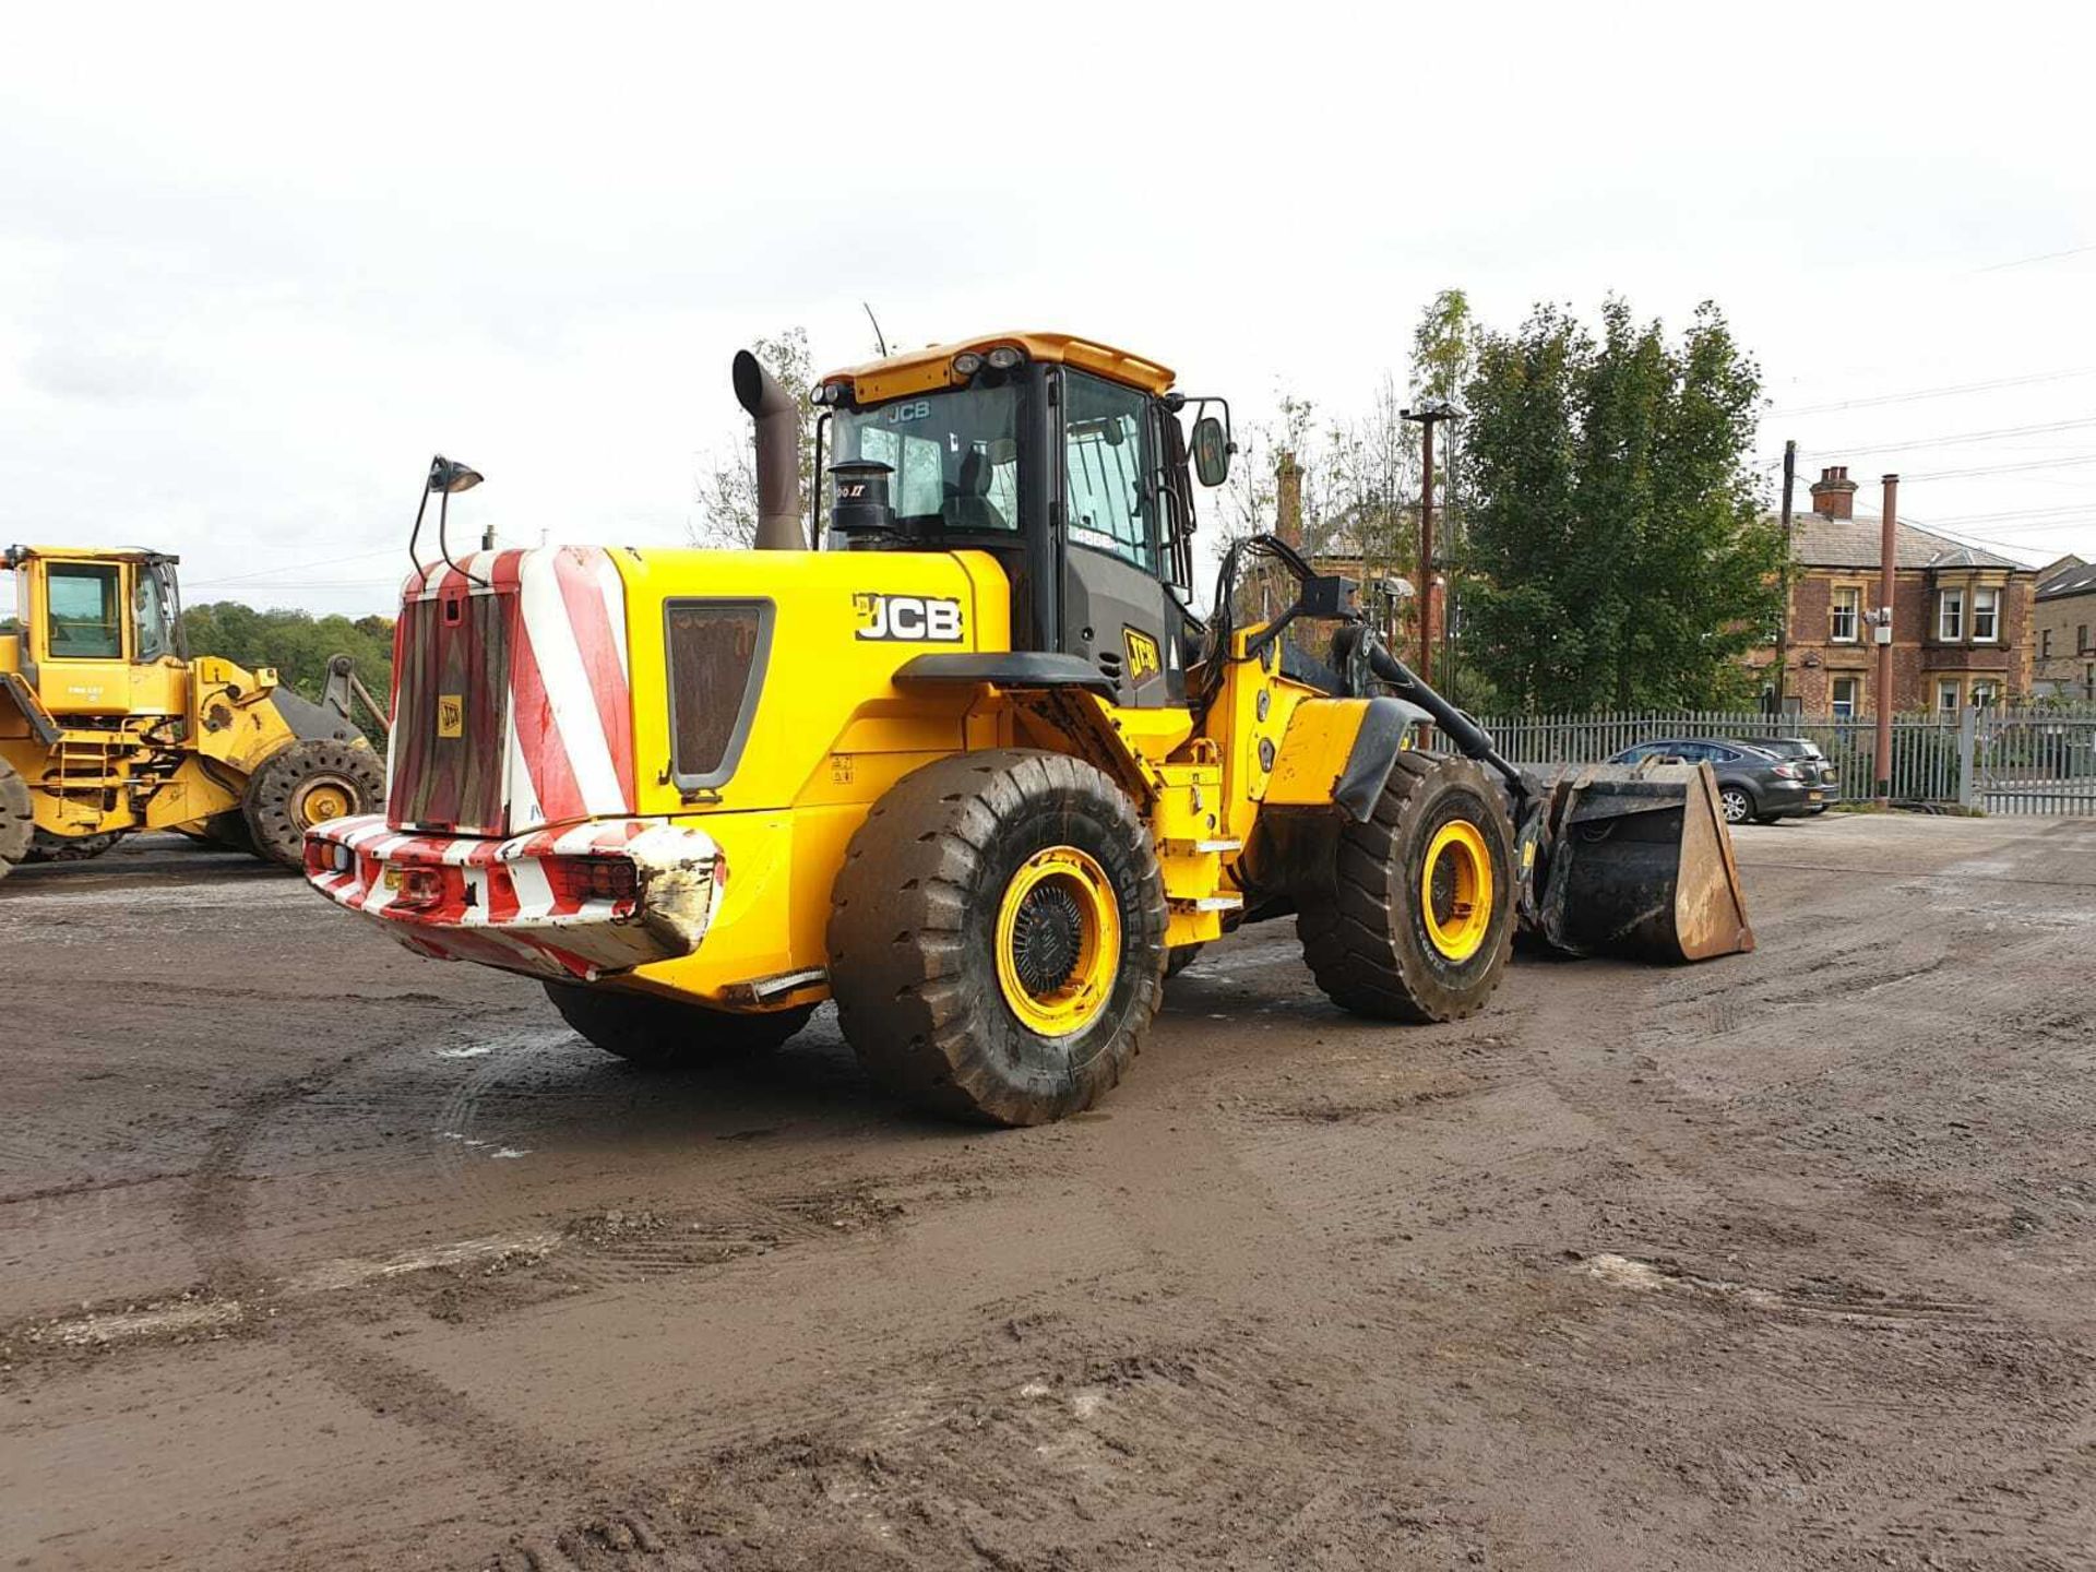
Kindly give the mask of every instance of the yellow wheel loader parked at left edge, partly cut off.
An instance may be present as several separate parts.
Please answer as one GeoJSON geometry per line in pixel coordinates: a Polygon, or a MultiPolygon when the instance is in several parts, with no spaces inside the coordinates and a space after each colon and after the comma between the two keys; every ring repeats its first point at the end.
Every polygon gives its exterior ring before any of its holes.
{"type": "Polygon", "coordinates": [[[0,551],[17,625],[0,633],[0,878],[180,830],[300,866],[306,830],[371,813],[386,767],[352,719],[384,719],[348,656],[312,704],[277,673],[191,660],[176,558],[0,551]]]}

